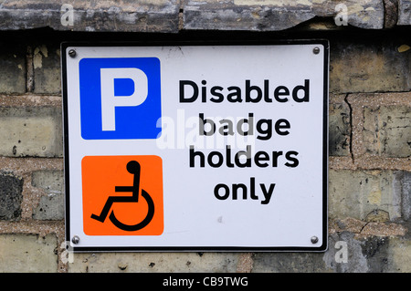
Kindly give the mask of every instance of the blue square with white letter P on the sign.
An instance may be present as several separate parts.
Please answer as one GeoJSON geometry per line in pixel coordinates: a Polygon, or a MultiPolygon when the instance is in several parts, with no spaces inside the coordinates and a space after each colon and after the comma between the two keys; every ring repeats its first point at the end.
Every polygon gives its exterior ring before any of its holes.
{"type": "Polygon", "coordinates": [[[157,139],[161,134],[156,57],[81,59],[79,98],[85,140],[157,139]]]}

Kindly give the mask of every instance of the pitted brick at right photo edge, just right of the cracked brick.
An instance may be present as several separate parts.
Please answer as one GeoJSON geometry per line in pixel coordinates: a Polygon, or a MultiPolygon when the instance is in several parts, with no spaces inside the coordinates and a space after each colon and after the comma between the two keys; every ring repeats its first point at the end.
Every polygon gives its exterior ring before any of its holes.
{"type": "Polygon", "coordinates": [[[411,107],[364,108],[364,149],[385,157],[411,156],[411,107]]]}

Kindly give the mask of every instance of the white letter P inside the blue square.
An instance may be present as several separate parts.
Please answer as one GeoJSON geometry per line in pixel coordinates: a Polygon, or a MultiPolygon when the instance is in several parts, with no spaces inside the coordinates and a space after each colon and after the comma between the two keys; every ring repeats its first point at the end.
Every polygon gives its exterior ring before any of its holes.
{"type": "Polygon", "coordinates": [[[116,107],[139,106],[147,99],[147,76],[138,68],[100,68],[101,76],[101,130],[116,130],[116,107]],[[114,79],[130,78],[134,92],[130,96],[114,95],[114,79]]]}

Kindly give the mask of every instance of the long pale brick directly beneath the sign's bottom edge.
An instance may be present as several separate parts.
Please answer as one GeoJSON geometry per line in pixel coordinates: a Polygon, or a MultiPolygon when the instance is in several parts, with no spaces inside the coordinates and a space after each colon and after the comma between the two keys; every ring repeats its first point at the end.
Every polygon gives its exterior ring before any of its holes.
{"type": "Polygon", "coordinates": [[[68,271],[77,272],[236,272],[234,253],[74,254],[68,271]]]}

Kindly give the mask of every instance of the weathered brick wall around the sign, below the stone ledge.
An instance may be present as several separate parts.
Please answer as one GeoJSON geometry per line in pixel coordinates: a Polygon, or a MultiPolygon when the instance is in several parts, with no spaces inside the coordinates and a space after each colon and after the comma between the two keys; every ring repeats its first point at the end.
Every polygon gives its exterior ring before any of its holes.
{"type": "Polygon", "coordinates": [[[206,29],[171,35],[41,29],[1,33],[0,272],[410,272],[409,26],[341,32],[312,28],[330,23],[314,20],[309,24],[310,29],[258,34],[206,29]],[[330,39],[329,249],[325,253],[68,257],[64,252],[60,42],[212,37],[330,39]]]}

